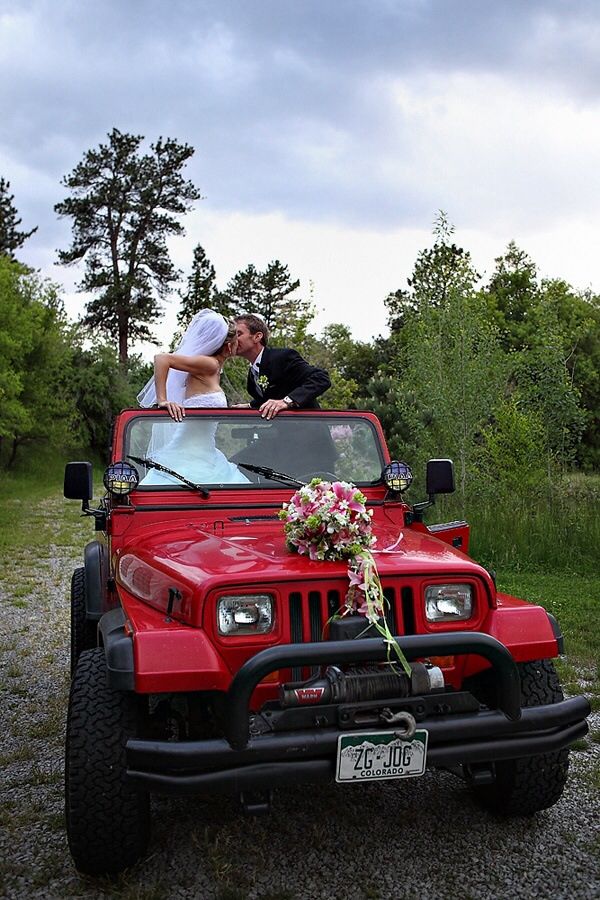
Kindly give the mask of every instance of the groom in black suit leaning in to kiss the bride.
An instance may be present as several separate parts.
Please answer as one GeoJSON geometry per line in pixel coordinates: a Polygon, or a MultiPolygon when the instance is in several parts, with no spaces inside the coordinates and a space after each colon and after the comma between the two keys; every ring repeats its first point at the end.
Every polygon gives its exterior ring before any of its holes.
{"type": "Polygon", "coordinates": [[[318,409],[317,397],[331,386],[327,372],[311,366],[296,350],[268,347],[269,329],[258,316],[238,316],[235,324],[237,355],[250,363],[248,405],[259,409],[263,419],[286,409],[318,409]]]}

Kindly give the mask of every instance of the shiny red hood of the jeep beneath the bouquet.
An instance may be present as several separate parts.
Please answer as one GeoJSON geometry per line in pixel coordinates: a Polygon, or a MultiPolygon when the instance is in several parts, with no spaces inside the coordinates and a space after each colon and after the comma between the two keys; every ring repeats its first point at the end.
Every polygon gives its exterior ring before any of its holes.
{"type": "MultiPolygon", "coordinates": [[[[135,597],[198,624],[204,597],[214,588],[259,588],[294,581],[346,583],[347,563],[310,560],[288,549],[279,522],[218,523],[218,533],[197,525],[162,528],[141,535],[117,553],[118,583],[135,597]],[[172,595],[172,592],[176,592],[172,595]],[[172,602],[173,607],[173,602],[172,602]]],[[[460,550],[425,532],[374,526],[373,548],[386,576],[489,576],[460,550]]]]}

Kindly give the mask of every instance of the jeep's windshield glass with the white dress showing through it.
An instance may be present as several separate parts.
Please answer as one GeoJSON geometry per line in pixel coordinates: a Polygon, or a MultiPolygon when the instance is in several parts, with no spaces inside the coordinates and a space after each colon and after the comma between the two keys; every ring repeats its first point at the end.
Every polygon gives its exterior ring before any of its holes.
{"type": "MultiPolygon", "coordinates": [[[[183,422],[140,416],[126,430],[123,457],[152,459],[194,484],[273,489],[313,477],[369,485],[384,465],[372,423],[359,416],[282,415],[271,421],[232,413],[188,412],[183,422]],[[245,466],[252,467],[246,468],[245,466]]],[[[189,490],[173,475],[136,462],[139,490],[189,490]]]]}

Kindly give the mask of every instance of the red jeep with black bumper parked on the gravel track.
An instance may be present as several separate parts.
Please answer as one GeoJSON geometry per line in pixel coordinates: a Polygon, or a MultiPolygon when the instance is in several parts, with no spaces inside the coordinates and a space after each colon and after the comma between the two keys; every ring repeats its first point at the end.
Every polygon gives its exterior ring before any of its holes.
{"type": "Polygon", "coordinates": [[[99,539],[72,582],[66,811],[75,864],[114,873],[144,853],[151,792],[235,793],[269,808],[280,784],[462,776],[489,809],[556,803],[584,697],[563,699],[556,621],[501,594],[468,556],[465,522],[425,525],[428,500],[390,462],[367,412],[125,410],[106,494],[66,467],[99,539]],[[204,474],[203,474],[204,473],[204,474]],[[358,615],[336,617],[345,562],[292,552],[278,513],[313,477],[366,495],[386,620],[411,674],[358,615]]]}

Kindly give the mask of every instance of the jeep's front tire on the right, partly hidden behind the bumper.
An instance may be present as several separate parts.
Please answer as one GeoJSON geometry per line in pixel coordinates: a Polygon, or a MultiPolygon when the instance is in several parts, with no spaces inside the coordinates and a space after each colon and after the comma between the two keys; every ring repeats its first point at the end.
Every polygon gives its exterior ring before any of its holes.
{"type": "MultiPolygon", "coordinates": [[[[521,663],[519,672],[523,706],[541,706],[564,699],[550,660],[521,663]]],[[[530,816],[560,800],[567,780],[569,751],[504,760],[495,765],[495,782],[473,788],[478,802],[501,815],[530,816]]]]}

